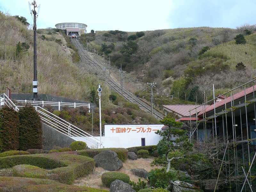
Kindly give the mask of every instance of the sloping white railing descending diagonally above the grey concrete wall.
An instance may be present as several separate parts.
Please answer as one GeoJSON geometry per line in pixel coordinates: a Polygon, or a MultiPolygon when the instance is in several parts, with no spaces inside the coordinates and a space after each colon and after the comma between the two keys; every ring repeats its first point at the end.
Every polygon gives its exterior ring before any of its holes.
{"type": "Polygon", "coordinates": [[[51,126],[53,129],[67,135],[71,138],[76,138],[76,140],[84,141],[91,145],[91,148],[100,148],[100,140],[96,139],[89,133],[79,129],[73,124],[68,123],[67,121],[61,119],[60,117],[52,114],[51,112],[45,110],[42,107],[34,106],[36,111],[39,113],[41,120],[51,126]]]}

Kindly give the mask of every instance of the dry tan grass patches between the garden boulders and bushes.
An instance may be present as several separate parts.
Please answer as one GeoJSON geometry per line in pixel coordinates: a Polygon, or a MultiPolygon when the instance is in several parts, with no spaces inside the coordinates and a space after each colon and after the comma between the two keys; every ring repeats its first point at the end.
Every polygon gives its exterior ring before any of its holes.
{"type": "MultiPolygon", "coordinates": [[[[139,169],[145,169],[147,172],[149,172],[151,169],[162,168],[160,166],[151,166],[150,163],[152,161],[153,161],[153,157],[150,157],[148,159],[140,158],[137,160],[128,159],[123,163],[123,167],[119,169],[118,172],[126,173],[127,175],[130,176],[130,180],[134,182],[138,182],[139,177],[136,175],[133,175],[130,170],[139,168],[139,169]]],[[[109,190],[109,188],[104,187],[101,182],[101,175],[104,172],[108,172],[108,171],[100,167],[95,167],[92,174],[88,175],[87,177],[83,177],[75,180],[74,185],[109,190]]],[[[140,179],[147,182],[147,180],[143,178],[140,178],[140,179]]]]}

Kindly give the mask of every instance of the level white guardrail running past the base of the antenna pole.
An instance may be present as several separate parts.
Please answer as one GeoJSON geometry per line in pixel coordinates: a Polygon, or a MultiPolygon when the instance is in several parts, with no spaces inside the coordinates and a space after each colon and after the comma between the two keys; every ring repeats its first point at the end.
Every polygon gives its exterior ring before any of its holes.
{"type": "Polygon", "coordinates": [[[32,106],[42,106],[44,108],[45,105],[58,106],[58,110],[60,111],[60,107],[68,106],[68,107],[87,107],[89,108],[90,113],[90,103],[65,103],[65,102],[52,102],[52,101],[31,101],[31,100],[15,100],[15,103],[28,103],[32,106]]]}

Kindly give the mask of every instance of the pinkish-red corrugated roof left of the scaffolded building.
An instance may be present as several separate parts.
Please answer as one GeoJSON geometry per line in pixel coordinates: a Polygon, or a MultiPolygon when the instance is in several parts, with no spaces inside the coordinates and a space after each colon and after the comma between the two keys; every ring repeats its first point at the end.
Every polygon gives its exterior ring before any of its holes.
{"type": "MultiPolygon", "coordinates": [[[[198,106],[198,105],[197,105],[198,106]]],[[[207,105],[208,107],[209,105],[207,105]]],[[[163,105],[163,107],[174,111],[175,113],[180,114],[181,116],[194,115],[196,112],[199,112],[203,107],[196,108],[196,105],[163,105]],[[189,113],[189,111],[191,112],[189,113]]]]}

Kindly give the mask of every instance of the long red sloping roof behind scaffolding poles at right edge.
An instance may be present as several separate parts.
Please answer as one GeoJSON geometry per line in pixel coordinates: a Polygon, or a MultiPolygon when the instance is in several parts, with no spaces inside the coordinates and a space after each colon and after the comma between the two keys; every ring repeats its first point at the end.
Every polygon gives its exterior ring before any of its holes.
{"type": "MultiPolygon", "coordinates": [[[[255,90],[255,89],[256,89],[256,85],[254,85],[254,90],[255,90]]],[[[250,88],[248,88],[248,89],[246,89],[245,92],[246,92],[246,94],[252,93],[252,92],[253,92],[253,86],[250,87],[250,88]]],[[[241,91],[241,92],[239,92],[239,93],[236,93],[236,94],[234,95],[234,97],[232,98],[232,100],[236,100],[236,99],[239,99],[239,98],[242,98],[242,97],[244,97],[244,91],[241,91]]],[[[230,101],[231,101],[231,97],[226,97],[226,103],[229,103],[230,101]]],[[[215,103],[215,109],[218,108],[218,107],[221,107],[221,106],[223,106],[223,105],[225,105],[225,100],[221,100],[221,101],[215,103]]],[[[213,105],[213,104],[210,105],[209,107],[207,107],[207,108],[204,110],[204,112],[207,113],[207,112],[209,112],[209,111],[211,111],[211,110],[214,110],[214,105],[213,105]]],[[[203,110],[201,110],[201,111],[198,113],[198,115],[202,115],[202,114],[203,114],[203,110]]]]}

